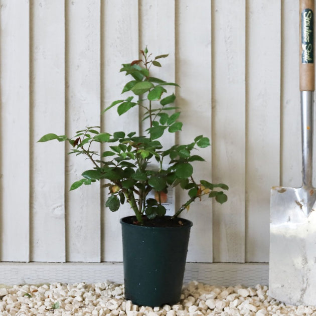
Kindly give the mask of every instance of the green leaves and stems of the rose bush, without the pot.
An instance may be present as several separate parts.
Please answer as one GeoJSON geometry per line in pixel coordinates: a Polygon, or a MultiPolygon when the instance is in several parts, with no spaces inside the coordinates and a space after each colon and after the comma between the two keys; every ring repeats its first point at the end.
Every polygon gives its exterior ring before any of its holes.
{"type": "Polygon", "coordinates": [[[127,202],[139,222],[143,216],[153,219],[165,215],[161,194],[166,193],[168,187],[180,186],[188,193],[188,201],[175,216],[203,196],[215,198],[221,204],[226,202],[223,190],[228,187],[225,184],[212,184],[206,180],[197,182],[193,178],[194,163],[204,161],[196,151],[209,146],[209,138],[199,135],[188,144],[176,144],[167,149],[161,143],[160,138],[165,133],[179,132],[183,127],[179,121],[181,112],[174,105],[176,95],[168,94],[166,89],[178,85],[150,76],[150,68],[161,67],[160,59],[168,55],[153,58],[147,49],[140,52],[142,59],[123,64],[120,69],[132,79],[124,85],[122,94],[129,92],[133,95],[113,101],[104,112],[116,107],[118,115],[123,115],[135,106],[142,107],[143,120],[149,121],[146,135],[137,135],[134,131],[110,134],[101,131],[99,126],[92,126],[77,131],[70,138],[49,133],[39,141],[68,141],[72,146],[71,154],[84,155],[91,161],[92,168],[84,171],[82,179],[73,183],[70,190],[106,180],[104,186],[108,187],[109,195],[105,206],[115,212],[127,202]],[[107,150],[94,151],[93,143],[106,143],[107,150]],[[156,169],[150,167],[153,162],[156,169]],[[166,163],[168,167],[165,167],[166,163]],[[158,193],[158,199],[148,198],[152,191],[158,193]]]}

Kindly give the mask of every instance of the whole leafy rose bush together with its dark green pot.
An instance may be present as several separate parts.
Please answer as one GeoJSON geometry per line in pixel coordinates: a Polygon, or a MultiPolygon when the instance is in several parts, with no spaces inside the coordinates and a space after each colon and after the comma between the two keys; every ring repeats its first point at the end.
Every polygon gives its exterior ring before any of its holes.
{"type": "Polygon", "coordinates": [[[120,69],[131,79],[122,94],[129,91],[132,95],[115,100],[104,112],[115,107],[123,115],[141,107],[147,122],[144,134],[109,133],[94,126],[79,130],[73,137],[50,133],[39,141],[68,141],[73,147],[71,153],[91,161],[91,169],[84,171],[70,190],[104,180],[109,189],[105,207],[116,212],[122,204],[130,205],[134,215],[120,220],[125,298],[158,306],[180,299],[192,222],[179,215],[204,197],[224,203],[228,187],[194,178],[192,163],[204,161],[197,149],[209,146],[209,138],[198,135],[187,144],[168,148],[161,142],[163,135],[181,132],[183,127],[179,107],[174,105],[176,95],[166,89],[177,84],[150,73],[151,67],[161,67],[161,59],[168,55],[153,57],[147,48],[140,55],[141,59],[120,69]],[[93,143],[106,143],[108,148],[99,153],[92,149],[93,143]],[[166,216],[165,196],[168,189],[177,186],[188,193],[188,199],[174,215],[166,216]]]}

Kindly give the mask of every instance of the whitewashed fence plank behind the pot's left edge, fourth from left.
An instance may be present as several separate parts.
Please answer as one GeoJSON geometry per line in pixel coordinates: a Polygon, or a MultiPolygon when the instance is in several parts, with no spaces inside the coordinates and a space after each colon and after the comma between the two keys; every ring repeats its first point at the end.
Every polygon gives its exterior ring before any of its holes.
{"type": "MultiPolygon", "coordinates": [[[[119,73],[121,64],[138,58],[138,1],[109,0],[102,7],[102,109],[114,100],[120,99],[125,83],[130,80],[119,73]]],[[[124,94],[123,96],[128,96],[124,94]]],[[[138,109],[135,107],[126,115],[118,116],[111,109],[102,116],[103,130],[138,133],[138,109]]],[[[121,227],[119,219],[132,215],[128,204],[112,213],[105,209],[108,189],[102,190],[102,261],[122,261],[121,227]]]]}

